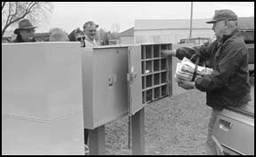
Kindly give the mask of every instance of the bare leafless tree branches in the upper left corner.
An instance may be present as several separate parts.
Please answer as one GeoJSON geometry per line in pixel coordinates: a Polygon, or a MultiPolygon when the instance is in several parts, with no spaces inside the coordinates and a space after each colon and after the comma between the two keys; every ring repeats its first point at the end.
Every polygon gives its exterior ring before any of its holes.
{"type": "Polygon", "coordinates": [[[46,19],[48,12],[52,12],[51,2],[2,2],[2,37],[5,30],[27,18],[37,24],[46,19]]]}

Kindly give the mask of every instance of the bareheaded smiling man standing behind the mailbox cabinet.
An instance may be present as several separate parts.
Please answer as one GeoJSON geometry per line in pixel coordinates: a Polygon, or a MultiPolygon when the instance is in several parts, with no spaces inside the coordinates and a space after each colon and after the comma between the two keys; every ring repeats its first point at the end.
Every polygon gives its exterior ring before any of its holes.
{"type": "Polygon", "coordinates": [[[85,39],[90,43],[90,45],[86,46],[93,46],[98,44],[95,40],[98,27],[99,25],[96,25],[93,21],[84,23],[85,39]]]}

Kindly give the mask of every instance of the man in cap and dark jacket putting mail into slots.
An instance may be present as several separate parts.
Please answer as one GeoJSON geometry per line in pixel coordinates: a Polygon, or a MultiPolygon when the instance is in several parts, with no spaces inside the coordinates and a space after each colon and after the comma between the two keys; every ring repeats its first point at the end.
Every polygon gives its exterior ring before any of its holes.
{"type": "MultiPolygon", "coordinates": [[[[212,20],[212,30],[216,40],[201,47],[182,47],[172,51],[162,51],[164,56],[172,55],[178,59],[188,59],[197,54],[200,60],[209,61],[213,69],[211,75],[196,78],[195,82],[180,81],[185,90],[196,89],[206,92],[206,105],[212,107],[208,124],[206,153],[217,154],[212,140],[212,129],[217,115],[228,106],[244,107],[251,100],[249,84],[248,51],[244,39],[237,31],[237,16],[230,10],[218,10],[212,20]]],[[[192,60],[193,61],[193,60],[192,60]]]]}

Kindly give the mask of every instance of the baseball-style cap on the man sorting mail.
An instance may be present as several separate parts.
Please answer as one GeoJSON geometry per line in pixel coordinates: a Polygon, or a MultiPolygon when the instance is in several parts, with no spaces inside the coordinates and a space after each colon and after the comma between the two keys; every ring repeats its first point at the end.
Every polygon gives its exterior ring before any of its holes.
{"type": "Polygon", "coordinates": [[[237,20],[237,15],[230,10],[216,10],[212,20],[209,20],[206,23],[214,23],[219,20],[237,20]]]}

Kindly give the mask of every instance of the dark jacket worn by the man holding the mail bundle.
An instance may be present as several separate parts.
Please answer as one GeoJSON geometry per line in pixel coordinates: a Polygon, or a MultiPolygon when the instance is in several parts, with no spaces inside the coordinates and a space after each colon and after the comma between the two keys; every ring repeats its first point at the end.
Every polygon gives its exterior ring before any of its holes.
{"type": "Polygon", "coordinates": [[[201,60],[209,60],[209,67],[213,69],[212,75],[197,78],[195,82],[196,89],[206,91],[208,106],[222,109],[242,106],[251,100],[248,51],[237,31],[207,46],[180,48],[176,56],[189,59],[196,52],[201,60]]]}

